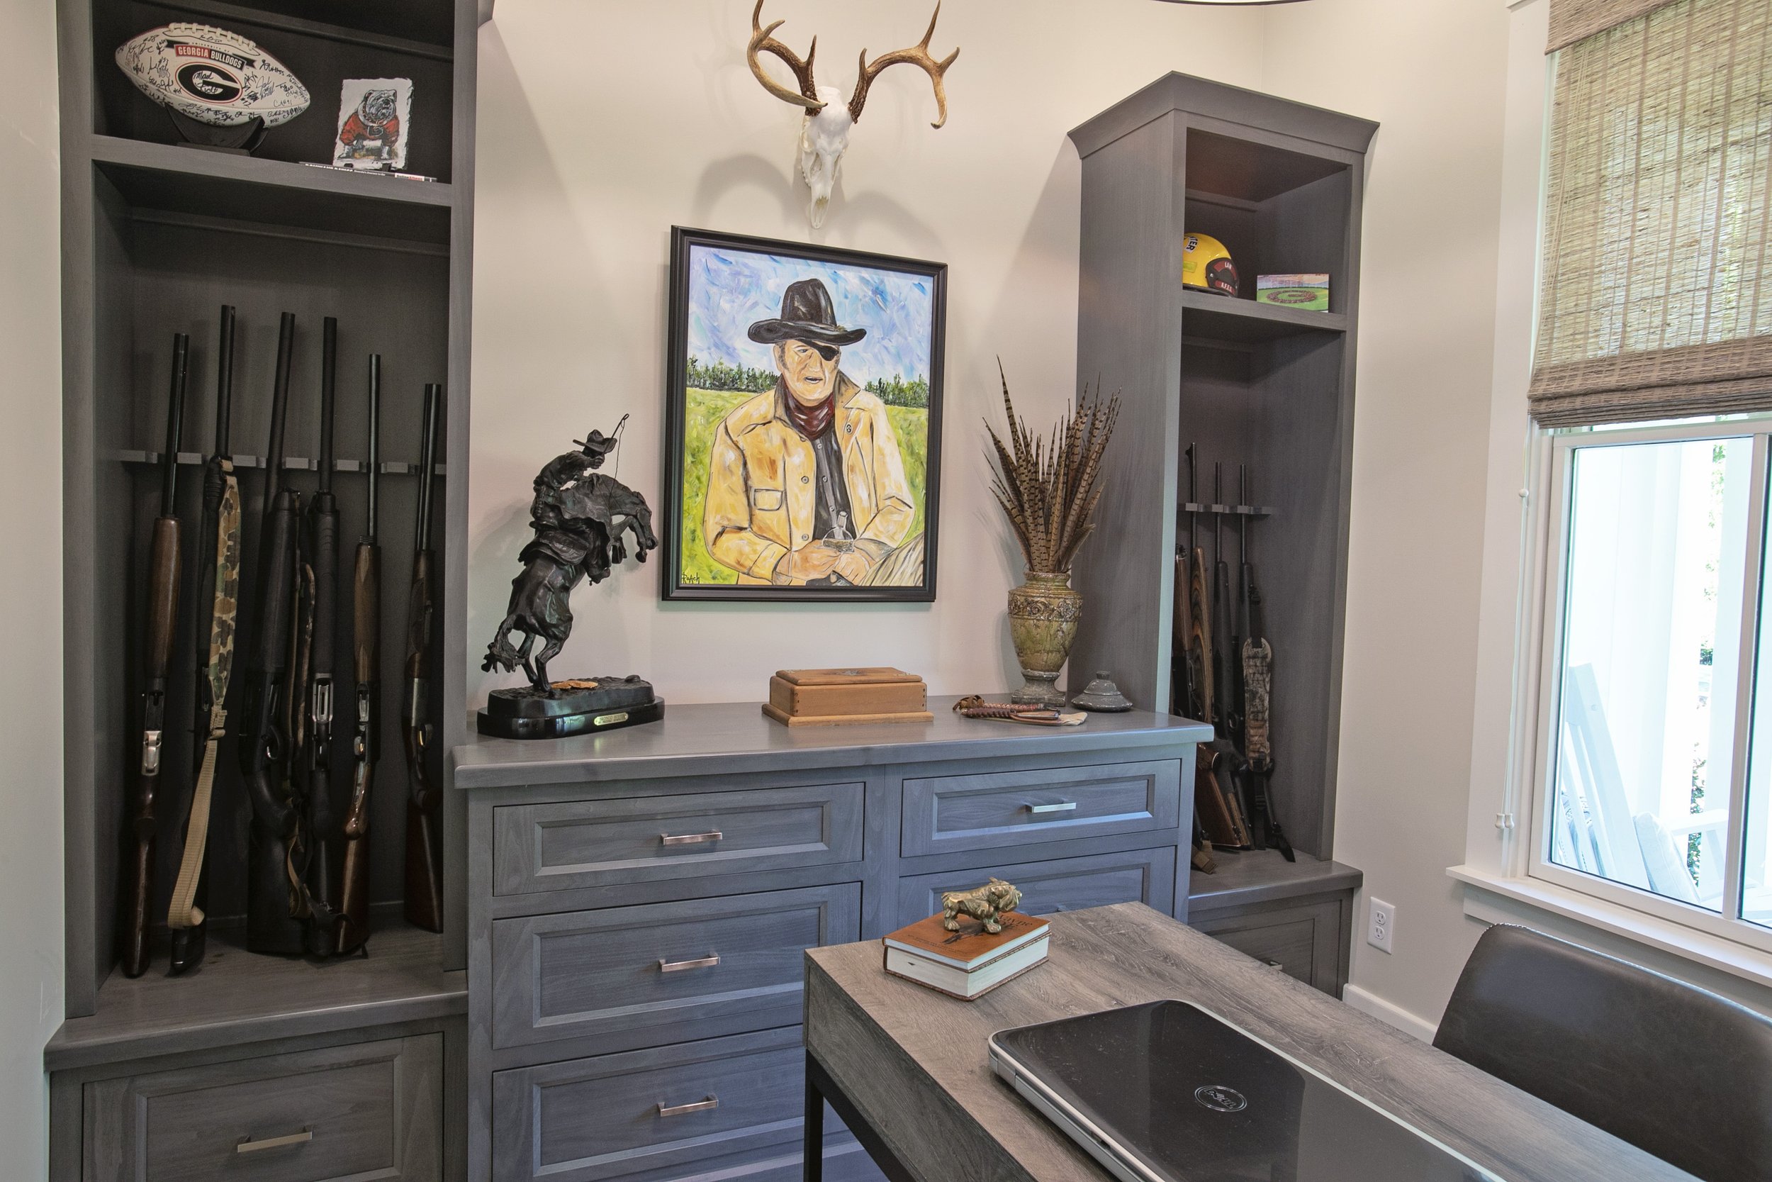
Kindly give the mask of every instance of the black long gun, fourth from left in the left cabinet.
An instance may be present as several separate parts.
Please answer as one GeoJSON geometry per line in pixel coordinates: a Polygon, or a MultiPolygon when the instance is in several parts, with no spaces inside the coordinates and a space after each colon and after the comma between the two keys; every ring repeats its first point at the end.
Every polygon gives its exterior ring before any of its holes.
{"type": "Polygon", "coordinates": [[[312,572],[312,656],[308,659],[308,743],[307,774],[307,867],[301,911],[308,925],[308,952],[330,957],[337,950],[338,927],[338,817],[333,810],[333,622],[338,615],[338,500],[333,478],[333,409],[338,392],[338,321],[321,323],[321,475],[319,489],[308,502],[307,556],[312,572]]]}

